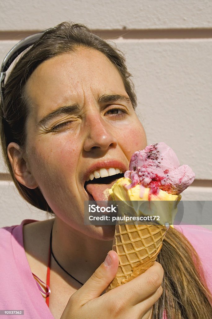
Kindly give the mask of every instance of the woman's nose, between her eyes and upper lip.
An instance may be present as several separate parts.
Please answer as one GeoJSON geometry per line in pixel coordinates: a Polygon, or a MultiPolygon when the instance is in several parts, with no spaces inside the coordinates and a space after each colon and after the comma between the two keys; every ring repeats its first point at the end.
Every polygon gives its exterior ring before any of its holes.
{"type": "Polygon", "coordinates": [[[110,147],[115,147],[118,142],[113,136],[106,122],[100,115],[90,114],[86,119],[86,138],[84,150],[90,152],[94,149],[106,151],[110,147]]]}

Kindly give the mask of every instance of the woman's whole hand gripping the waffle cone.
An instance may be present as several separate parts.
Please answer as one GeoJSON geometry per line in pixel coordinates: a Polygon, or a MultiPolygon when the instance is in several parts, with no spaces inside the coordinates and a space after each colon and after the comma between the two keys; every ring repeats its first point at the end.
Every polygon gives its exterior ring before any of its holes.
{"type": "Polygon", "coordinates": [[[150,319],[152,306],[162,294],[163,268],[155,262],[145,273],[101,296],[115,277],[116,252],[69,299],[60,319],[150,319]]]}

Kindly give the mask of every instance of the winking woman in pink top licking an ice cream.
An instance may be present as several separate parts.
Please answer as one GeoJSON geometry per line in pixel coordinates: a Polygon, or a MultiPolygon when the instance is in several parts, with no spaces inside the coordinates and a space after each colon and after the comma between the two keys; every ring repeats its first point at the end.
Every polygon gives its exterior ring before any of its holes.
{"type": "Polygon", "coordinates": [[[127,170],[147,145],[129,77],[116,49],[70,23],[47,30],[11,70],[1,101],[5,160],[20,194],[55,217],[1,230],[10,267],[3,262],[0,308],[24,309],[27,318],[211,318],[200,261],[177,230],[168,230],[161,264],[102,294],[118,269],[114,227],[84,225],[84,201],[105,199],[120,175],[85,182],[100,169],[127,170]]]}

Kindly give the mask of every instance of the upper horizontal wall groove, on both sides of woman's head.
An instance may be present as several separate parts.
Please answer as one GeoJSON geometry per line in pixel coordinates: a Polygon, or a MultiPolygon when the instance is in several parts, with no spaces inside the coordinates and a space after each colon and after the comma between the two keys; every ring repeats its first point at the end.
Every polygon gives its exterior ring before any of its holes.
{"type": "MultiPolygon", "coordinates": [[[[0,40],[21,40],[40,30],[0,31],[0,40]]],[[[93,30],[104,39],[209,39],[212,28],[93,30]]]]}

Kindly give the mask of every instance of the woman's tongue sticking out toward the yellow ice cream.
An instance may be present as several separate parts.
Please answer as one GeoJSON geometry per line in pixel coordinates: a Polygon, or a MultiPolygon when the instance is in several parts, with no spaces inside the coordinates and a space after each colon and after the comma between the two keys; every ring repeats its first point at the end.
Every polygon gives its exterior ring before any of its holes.
{"type": "Polygon", "coordinates": [[[95,201],[111,200],[108,189],[111,188],[116,181],[117,179],[108,184],[87,184],[86,191],[92,195],[95,201]]]}

